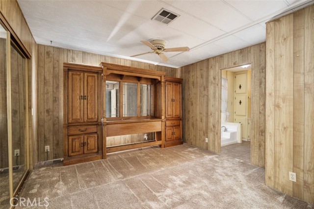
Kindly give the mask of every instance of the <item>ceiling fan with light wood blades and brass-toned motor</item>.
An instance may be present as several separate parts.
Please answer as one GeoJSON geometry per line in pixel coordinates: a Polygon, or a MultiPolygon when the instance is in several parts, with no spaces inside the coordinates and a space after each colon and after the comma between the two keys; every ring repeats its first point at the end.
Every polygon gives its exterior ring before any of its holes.
{"type": "Polygon", "coordinates": [[[176,47],[176,48],[165,48],[165,41],[161,40],[161,39],[153,39],[151,41],[141,41],[143,44],[145,44],[146,46],[148,46],[149,48],[151,48],[152,52],[145,52],[145,53],[140,53],[140,54],[136,54],[136,55],[132,55],[131,57],[134,56],[140,56],[143,54],[148,54],[148,53],[156,53],[159,55],[159,57],[163,60],[163,61],[168,61],[168,57],[166,55],[164,55],[164,52],[188,52],[190,51],[190,48],[188,47],[176,47]]]}

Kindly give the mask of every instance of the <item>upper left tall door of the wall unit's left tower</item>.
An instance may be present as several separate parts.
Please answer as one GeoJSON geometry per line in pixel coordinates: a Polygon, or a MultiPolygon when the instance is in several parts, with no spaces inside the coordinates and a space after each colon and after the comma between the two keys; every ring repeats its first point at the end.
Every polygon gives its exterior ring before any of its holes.
{"type": "Polygon", "coordinates": [[[83,122],[83,82],[84,74],[80,72],[69,72],[68,89],[68,122],[83,122]]]}

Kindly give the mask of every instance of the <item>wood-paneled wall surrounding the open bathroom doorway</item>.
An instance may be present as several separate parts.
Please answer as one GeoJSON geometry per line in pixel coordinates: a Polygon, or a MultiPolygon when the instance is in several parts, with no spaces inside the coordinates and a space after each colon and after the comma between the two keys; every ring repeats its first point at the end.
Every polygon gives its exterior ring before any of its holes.
{"type": "Polygon", "coordinates": [[[183,78],[183,140],[220,153],[221,69],[252,64],[251,163],[264,166],[265,43],[178,69],[183,78]],[[205,142],[208,137],[208,143],[205,142]]]}

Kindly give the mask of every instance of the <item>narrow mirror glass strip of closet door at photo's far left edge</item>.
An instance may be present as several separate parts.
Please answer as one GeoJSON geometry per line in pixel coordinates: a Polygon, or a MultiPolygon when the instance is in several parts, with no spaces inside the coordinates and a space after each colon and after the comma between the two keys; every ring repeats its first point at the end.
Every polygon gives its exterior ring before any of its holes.
{"type": "Polygon", "coordinates": [[[0,25],[0,208],[10,208],[9,155],[6,107],[6,39],[7,32],[0,25]]]}

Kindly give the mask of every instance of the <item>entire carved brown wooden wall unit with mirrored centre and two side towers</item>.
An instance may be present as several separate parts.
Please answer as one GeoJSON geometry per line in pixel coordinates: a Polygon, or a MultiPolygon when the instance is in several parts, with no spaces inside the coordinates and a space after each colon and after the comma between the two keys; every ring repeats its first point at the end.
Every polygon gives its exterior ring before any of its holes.
{"type": "Polygon", "coordinates": [[[100,67],[64,63],[63,164],[182,144],[182,79],[164,75],[104,62],[100,67]],[[115,141],[131,135],[135,142],[115,141]]]}

